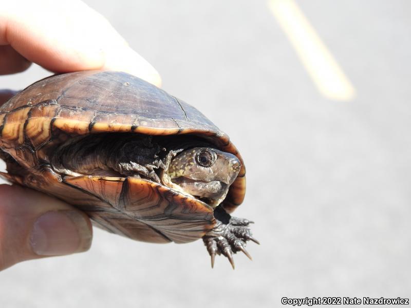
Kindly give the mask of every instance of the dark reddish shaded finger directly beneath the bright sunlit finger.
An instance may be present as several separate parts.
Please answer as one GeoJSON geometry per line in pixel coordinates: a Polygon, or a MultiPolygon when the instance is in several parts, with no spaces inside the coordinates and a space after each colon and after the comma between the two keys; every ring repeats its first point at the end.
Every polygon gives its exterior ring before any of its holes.
{"type": "Polygon", "coordinates": [[[0,75],[19,73],[30,65],[31,62],[10,45],[0,46],[0,75]]]}

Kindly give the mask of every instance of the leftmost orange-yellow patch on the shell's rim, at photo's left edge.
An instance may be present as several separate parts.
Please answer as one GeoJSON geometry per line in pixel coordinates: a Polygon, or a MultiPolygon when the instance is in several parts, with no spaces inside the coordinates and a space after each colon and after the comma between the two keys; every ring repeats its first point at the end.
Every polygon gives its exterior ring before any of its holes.
{"type": "Polygon", "coordinates": [[[7,115],[6,124],[3,127],[2,139],[8,141],[17,140],[18,144],[24,142],[24,123],[31,107],[17,109],[7,115]]]}

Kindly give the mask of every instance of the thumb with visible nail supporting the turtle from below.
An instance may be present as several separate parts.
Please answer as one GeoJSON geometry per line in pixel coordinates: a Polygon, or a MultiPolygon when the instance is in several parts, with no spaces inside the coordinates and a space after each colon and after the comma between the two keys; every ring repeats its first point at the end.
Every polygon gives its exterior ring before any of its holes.
{"type": "Polygon", "coordinates": [[[58,199],[20,186],[0,185],[0,270],[47,256],[87,251],[88,217],[58,199]]]}

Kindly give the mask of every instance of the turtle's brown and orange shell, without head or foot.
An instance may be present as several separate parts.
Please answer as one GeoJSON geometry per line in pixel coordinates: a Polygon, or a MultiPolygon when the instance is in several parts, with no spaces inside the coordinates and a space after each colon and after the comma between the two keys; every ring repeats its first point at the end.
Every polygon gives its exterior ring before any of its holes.
{"type": "Polygon", "coordinates": [[[213,209],[144,179],[61,177],[45,149],[70,136],[102,132],[195,134],[236,155],[242,168],[223,201],[232,212],[245,195],[245,167],[227,134],[194,107],[133,75],[83,71],[51,76],[0,107],[0,149],[24,169],[8,180],[85,210],[98,226],[136,240],[189,242],[211,230],[213,209]]]}

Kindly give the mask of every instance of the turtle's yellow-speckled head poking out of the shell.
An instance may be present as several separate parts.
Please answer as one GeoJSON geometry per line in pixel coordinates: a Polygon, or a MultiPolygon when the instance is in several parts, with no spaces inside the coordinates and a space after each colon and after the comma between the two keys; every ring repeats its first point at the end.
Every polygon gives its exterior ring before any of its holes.
{"type": "Polygon", "coordinates": [[[241,163],[234,155],[210,147],[180,152],[170,163],[171,181],[188,194],[217,206],[237,178],[241,163]]]}

